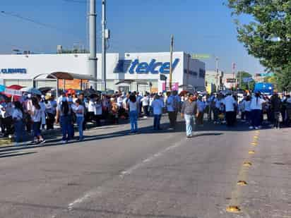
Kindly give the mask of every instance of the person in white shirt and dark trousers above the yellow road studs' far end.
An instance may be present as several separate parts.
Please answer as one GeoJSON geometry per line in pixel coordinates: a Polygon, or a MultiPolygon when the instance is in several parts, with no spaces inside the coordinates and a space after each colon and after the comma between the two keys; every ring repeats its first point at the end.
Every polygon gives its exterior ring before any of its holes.
{"type": "Polygon", "coordinates": [[[250,129],[261,128],[261,117],[263,114],[263,103],[266,101],[261,99],[261,94],[256,92],[256,95],[251,98],[251,126],[250,129]]]}

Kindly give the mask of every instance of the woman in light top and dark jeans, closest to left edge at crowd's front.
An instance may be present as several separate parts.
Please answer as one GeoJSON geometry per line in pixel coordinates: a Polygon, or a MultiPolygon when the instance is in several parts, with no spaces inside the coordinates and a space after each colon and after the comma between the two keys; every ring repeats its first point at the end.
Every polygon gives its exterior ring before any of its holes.
{"type": "Polygon", "coordinates": [[[23,107],[20,102],[14,102],[14,109],[12,111],[12,119],[14,121],[14,128],[16,133],[16,146],[22,141],[25,141],[25,128],[23,123],[23,107]]]}

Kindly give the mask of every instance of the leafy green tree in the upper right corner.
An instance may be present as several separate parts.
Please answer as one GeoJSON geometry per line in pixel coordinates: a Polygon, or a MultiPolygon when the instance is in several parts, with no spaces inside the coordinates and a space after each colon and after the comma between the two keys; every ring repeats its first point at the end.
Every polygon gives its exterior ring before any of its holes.
{"type": "Polygon", "coordinates": [[[238,40],[267,71],[275,72],[278,85],[288,88],[285,79],[291,70],[291,0],[228,0],[228,6],[232,16],[253,18],[249,23],[235,20],[238,40]]]}

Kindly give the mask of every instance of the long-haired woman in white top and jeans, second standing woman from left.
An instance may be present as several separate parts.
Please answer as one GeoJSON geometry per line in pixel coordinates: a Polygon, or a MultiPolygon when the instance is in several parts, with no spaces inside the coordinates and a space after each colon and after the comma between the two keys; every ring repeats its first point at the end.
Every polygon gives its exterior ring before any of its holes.
{"type": "Polygon", "coordinates": [[[45,143],[45,140],[42,138],[42,135],[40,134],[40,125],[42,120],[42,109],[40,107],[40,104],[38,103],[37,98],[32,98],[32,108],[31,111],[29,111],[31,119],[32,119],[32,129],[33,129],[33,144],[43,144],[45,143]]]}

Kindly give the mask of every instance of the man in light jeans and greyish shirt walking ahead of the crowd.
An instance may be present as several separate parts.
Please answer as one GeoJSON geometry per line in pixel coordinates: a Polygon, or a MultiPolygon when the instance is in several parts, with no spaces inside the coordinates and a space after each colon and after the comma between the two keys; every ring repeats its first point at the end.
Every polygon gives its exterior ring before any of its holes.
{"type": "Polygon", "coordinates": [[[182,105],[181,116],[184,117],[186,121],[186,137],[191,138],[192,124],[195,123],[195,116],[198,116],[197,103],[194,102],[194,95],[190,94],[188,100],[182,105]]]}

